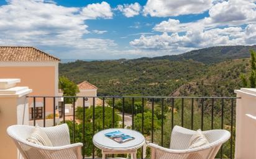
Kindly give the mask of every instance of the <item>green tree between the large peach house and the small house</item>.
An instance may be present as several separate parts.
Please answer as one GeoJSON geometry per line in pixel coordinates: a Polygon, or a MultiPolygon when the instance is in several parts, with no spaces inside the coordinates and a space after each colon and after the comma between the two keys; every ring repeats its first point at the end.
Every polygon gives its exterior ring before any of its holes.
{"type": "MultiPolygon", "coordinates": [[[[72,82],[70,79],[62,76],[58,80],[58,88],[63,90],[64,96],[76,96],[76,93],[79,93],[78,86],[72,82]]],[[[72,103],[73,98],[65,98],[65,103],[72,103]]]]}

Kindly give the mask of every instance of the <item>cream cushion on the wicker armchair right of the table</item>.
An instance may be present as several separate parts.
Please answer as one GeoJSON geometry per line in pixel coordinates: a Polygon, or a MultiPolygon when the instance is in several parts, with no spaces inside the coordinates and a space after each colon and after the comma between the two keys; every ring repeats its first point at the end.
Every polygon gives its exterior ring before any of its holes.
{"type": "Polygon", "coordinates": [[[201,129],[196,131],[194,135],[190,138],[189,147],[188,148],[197,148],[203,145],[209,144],[208,140],[202,133],[201,129]]]}

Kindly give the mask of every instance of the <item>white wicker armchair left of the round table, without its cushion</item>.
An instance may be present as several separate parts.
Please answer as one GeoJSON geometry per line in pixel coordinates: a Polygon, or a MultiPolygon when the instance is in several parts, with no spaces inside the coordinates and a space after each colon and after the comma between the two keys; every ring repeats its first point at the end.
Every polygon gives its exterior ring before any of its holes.
{"type": "Polygon", "coordinates": [[[7,128],[7,134],[14,140],[25,159],[81,159],[83,144],[70,144],[70,133],[67,124],[43,127],[53,147],[33,144],[26,139],[33,131],[33,126],[14,125],[7,128]]]}

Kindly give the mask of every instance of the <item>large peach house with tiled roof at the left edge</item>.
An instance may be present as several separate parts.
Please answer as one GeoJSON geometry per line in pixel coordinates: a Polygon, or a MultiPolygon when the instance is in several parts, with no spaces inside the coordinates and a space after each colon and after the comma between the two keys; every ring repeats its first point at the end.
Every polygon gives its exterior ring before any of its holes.
{"type": "MultiPolygon", "coordinates": [[[[60,59],[34,47],[0,46],[0,78],[21,79],[19,85],[32,88],[30,95],[58,95],[58,63],[60,59]]],[[[53,112],[53,99],[46,100],[46,116],[53,112]]],[[[57,102],[58,103],[58,102],[57,102]]],[[[30,98],[30,118],[34,102],[30,98]]],[[[35,118],[43,118],[43,99],[35,102],[35,118]]]]}

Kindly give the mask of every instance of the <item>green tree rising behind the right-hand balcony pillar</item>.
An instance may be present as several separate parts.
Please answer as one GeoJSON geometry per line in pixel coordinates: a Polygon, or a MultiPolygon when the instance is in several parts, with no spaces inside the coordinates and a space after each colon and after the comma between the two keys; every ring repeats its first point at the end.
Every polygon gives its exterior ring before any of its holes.
{"type": "Polygon", "coordinates": [[[250,50],[250,74],[247,78],[244,74],[240,75],[244,87],[256,88],[256,52],[250,50]]]}

